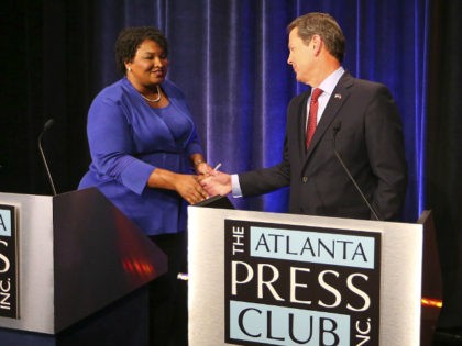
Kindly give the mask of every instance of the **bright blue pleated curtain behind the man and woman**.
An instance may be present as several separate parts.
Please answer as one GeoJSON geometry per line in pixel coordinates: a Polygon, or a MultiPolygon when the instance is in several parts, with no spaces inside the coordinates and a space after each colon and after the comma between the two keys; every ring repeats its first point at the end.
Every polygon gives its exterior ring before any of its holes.
{"type": "MultiPolygon", "coordinates": [[[[387,85],[396,99],[409,165],[405,217],[417,220],[425,198],[428,0],[101,0],[95,7],[95,85],[118,78],[113,42],[122,27],[160,27],[170,43],[168,78],[187,94],[208,160],[228,172],[280,160],[286,107],[307,89],[287,65],[286,26],[306,12],[329,12],[346,36],[344,67],[387,85]]],[[[284,212],[287,194],[233,202],[284,212]]]]}

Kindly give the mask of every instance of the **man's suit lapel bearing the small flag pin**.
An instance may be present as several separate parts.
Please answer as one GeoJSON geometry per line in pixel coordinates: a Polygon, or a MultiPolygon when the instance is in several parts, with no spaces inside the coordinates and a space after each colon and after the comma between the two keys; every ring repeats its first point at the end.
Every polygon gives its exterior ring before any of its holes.
{"type": "Polygon", "coordinates": [[[348,98],[350,97],[350,91],[348,89],[352,85],[353,78],[351,77],[351,75],[348,72],[343,74],[343,76],[337,83],[337,87],[333,89],[333,92],[330,96],[324,112],[322,113],[322,118],[319,121],[318,126],[316,127],[315,135],[312,136],[311,144],[307,152],[306,161],[308,161],[318,143],[327,134],[327,130],[331,126],[343,103],[346,102],[348,98]]]}

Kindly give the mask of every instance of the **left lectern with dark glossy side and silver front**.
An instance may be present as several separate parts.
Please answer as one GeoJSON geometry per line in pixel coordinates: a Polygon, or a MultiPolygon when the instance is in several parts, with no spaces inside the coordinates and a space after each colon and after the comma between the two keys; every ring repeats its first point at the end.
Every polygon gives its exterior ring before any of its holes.
{"type": "MultiPolygon", "coordinates": [[[[52,335],[50,345],[59,345],[53,336],[85,328],[82,321],[92,315],[103,321],[105,309],[123,305],[166,267],[158,247],[97,189],[55,197],[0,193],[2,345],[23,334],[41,341],[52,335]]],[[[118,319],[114,330],[133,316],[118,319]]]]}

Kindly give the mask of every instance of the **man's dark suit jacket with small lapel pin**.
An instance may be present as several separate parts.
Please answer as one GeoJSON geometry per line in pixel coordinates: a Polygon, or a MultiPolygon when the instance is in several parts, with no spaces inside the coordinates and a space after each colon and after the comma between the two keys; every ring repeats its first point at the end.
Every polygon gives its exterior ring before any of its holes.
{"type": "Polygon", "coordinates": [[[311,145],[305,148],[309,92],[288,105],[280,164],[239,175],[243,196],[290,186],[289,212],[374,219],[333,150],[381,220],[399,220],[407,187],[403,126],[388,89],[345,72],[332,92],[311,145]]]}

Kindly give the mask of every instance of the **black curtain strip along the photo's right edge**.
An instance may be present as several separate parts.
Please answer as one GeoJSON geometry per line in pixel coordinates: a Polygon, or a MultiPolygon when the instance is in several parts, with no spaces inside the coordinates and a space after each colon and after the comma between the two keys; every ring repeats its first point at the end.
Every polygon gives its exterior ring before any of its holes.
{"type": "Polygon", "coordinates": [[[462,1],[431,9],[428,201],[443,272],[442,327],[462,326],[462,1]]]}

